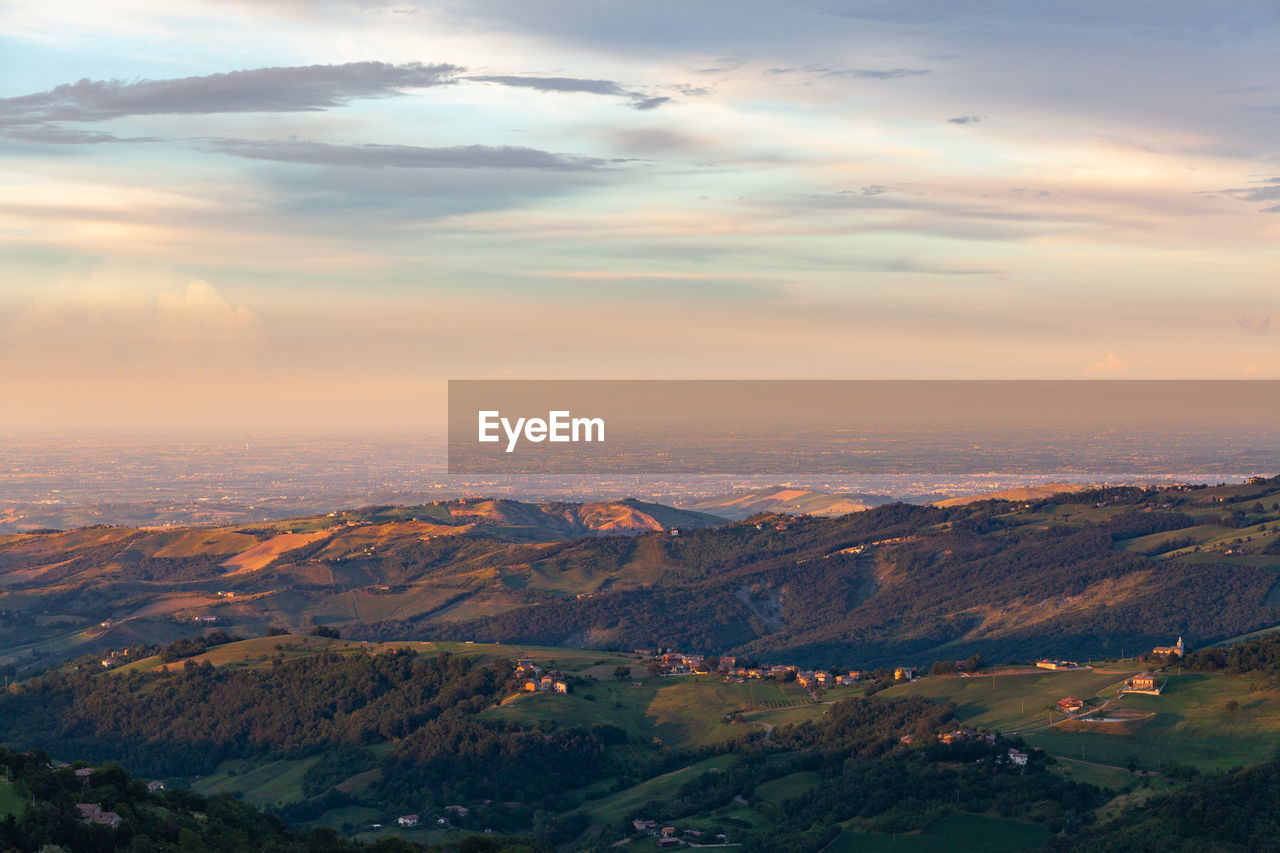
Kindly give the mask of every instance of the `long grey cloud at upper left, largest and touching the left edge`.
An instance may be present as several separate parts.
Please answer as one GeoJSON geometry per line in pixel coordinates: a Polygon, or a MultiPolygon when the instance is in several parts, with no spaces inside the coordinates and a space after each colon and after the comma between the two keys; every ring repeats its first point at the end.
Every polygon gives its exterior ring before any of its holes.
{"type": "Polygon", "coordinates": [[[0,127],[104,122],[127,115],[324,110],[360,97],[454,82],[458,65],[365,61],[255,68],[173,79],[81,79],[0,99],[0,127]]]}

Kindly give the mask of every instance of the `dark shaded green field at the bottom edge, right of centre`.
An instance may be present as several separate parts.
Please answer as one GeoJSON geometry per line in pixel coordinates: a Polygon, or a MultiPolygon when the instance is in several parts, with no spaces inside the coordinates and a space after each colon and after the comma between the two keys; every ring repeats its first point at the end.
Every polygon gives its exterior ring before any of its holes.
{"type": "Polygon", "coordinates": [[[1037,850],[1048,841],[1043,826],[998,817],[955,812],[923,833],[873,835],[846,831],[827,853],[1018,853],[1037,850]]]}

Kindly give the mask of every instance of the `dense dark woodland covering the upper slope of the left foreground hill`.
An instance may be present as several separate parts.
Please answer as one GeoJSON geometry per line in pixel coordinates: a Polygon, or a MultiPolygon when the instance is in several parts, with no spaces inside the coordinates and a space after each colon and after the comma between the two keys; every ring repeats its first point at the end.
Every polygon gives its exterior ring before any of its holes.
{"type": "Polygon", "coordinates": [[[508,674],[507,663],[408,651],[257,669],[187,661],[177,672],[52,672],[0,697],[0,729],[15,743],[150,775],[205,774],[232,757],[403,738],[451,708],[488,707],[508,674]]]}

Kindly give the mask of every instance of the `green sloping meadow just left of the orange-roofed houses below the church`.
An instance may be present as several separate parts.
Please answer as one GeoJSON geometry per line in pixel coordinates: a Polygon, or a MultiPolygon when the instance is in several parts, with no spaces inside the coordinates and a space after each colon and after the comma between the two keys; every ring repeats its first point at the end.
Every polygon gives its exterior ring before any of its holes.
{"type": "MultiPolygon", "coordinates": [[[[992,731],[1020,731],[1048,722],[1048,706],[1069,695],[1087,699],[1124,683],[1128,672],[1076,670],[1000,674],[974,678],[928,678],[882,692],[886,698],[923,695],[956,703],[963,722],[992,731]]],[[[1110,690],[1114,693],[1114,690],[1110,690]]],[[[1055,717],[1061,715],[1055,712],[1055,717]]]]}

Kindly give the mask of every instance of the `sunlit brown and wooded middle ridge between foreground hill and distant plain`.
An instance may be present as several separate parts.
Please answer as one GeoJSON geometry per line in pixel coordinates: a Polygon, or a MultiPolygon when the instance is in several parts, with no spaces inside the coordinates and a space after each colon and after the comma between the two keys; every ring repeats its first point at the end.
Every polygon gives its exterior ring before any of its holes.
{"type": "Polygon", "coordinates": [[[472,500],[0,537],[0,662],[169,642],[196,620],[836,666],[1097,658],[1280,624],[1275,479],[709,524],[472,500]]]}

